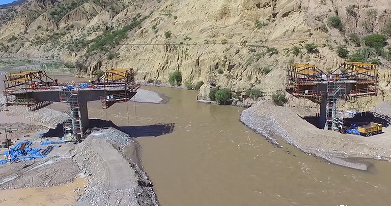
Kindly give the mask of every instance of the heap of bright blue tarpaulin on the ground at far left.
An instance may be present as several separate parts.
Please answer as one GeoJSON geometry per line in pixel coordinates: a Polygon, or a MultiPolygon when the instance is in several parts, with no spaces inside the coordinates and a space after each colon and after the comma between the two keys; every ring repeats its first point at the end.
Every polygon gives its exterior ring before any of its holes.
{"type": "MultiPolygon", "coordinates": [[[[10,149],[10,152],[8,153],[8,150],[4,152],[3,155],[11,155],[12,161],[17,160],[33,160],[36,158],[43,158],[46,157],[46,155],[42,155],[39,151],[41,148],[34,148],[30,147],[30,145],[33,144],[31,141],[23,141],[15,145],[13,148],[10,149]]],[[[0,160],[0,164],[5,164],[9,159],[2,159],[0,160]]]]}

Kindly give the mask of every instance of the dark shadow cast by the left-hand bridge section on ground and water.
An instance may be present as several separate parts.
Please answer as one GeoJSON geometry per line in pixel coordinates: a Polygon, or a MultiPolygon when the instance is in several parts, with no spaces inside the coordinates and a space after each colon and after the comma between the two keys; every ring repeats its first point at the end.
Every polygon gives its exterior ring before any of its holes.
{"type": "MultiPolygon", "coordinates": [[[[161,136],[164,134],[172,133],[174,131],[174,123],[165,123],[165,124],[152,124],[152,125],[142,125],[142,126],[117,126],[112,121],[101,120],[101,119],[90,119],[88,129],[92,128],[108,128],[114,127],[132,138],[138,138],[141,136],[161,136]]],[[[52,136],[63,136],[64,135],[63,124],[58,124],[55,129],[49,129],[44,133],[45,137],[52,136]]],[[[87,132],[88,134],[89,132],[87,132]]]]}

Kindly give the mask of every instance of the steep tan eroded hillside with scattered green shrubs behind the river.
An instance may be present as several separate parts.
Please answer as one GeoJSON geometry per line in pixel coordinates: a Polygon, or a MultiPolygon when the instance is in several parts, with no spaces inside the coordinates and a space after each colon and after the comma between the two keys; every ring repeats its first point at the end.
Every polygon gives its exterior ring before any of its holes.
{"type": "Polygon", "coordinates": [[[380,98],[391,100],[390,1],[29,0],[16,10],[0,55],[61,58],[87,74],[133,67],[162,82],[179,70],[183,82],[262,91],[283,88],[290,62],[328,70],[367,59],[381,64],[380,98]]]}

